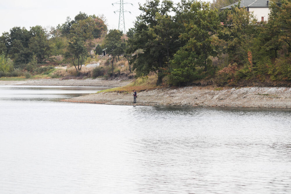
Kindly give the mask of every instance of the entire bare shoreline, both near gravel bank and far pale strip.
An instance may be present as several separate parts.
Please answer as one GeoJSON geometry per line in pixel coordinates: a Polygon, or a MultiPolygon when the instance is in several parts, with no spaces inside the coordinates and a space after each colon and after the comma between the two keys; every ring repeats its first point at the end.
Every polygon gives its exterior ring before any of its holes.
{"type": "MultiPolygon", "coordinates": [[[[103,79],[29,79],[24,81],[0,81],[0,85],[25,86],[91,86],[120,87],[131,80],[103,79]]],[[[62,102],[95,103],[140,106],[185,106],[185,107],[234,107],[234,108],[291,108],[289,87],[241,87],[212,88],[201,86],[167,87],[137,93],[133,104],[132,93],[100,92],[62,102]]]]}

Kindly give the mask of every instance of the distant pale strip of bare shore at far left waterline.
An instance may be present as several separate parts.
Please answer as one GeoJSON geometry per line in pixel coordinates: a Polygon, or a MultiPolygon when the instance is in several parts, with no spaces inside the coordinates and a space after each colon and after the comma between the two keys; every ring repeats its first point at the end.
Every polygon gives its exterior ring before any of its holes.
{"type": "Polygon", "coordinates": [[[130,83],[131,80],[103,80],[103,79],[31,79],[25,81],[0,81],[0,85],[26,85],[26,86],[108,86],[120,87],[130,83]]]}

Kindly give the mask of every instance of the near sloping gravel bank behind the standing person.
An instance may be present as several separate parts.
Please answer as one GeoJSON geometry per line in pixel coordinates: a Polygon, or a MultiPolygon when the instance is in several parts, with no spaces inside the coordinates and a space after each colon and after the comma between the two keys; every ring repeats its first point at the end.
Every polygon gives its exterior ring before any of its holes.
{"type": "MultiPolygon", "coordinates": [[[[245,87],[215,91],[204,87],[163,88],[138,92],[136,105],[291,108],[291,88],[245,87]]],[[[63,100],[98,104],[133,105],[132,94],[101,92],[63,100]]]]}

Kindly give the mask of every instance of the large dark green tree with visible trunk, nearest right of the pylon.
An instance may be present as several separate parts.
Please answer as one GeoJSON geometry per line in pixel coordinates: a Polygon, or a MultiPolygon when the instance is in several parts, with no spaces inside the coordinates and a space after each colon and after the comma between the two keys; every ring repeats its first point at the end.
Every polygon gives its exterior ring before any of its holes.
{"type": "Polygon", "coordinates": [[[162,83],[163,72],[179,45],[179,28],[170,12],[173,2],[164,0],[147,1],[139,9],[142,11],[134,27],[133,38],[129,39],[132,52],[142,49],[133,56],[131,63],[137,76],[147,75],[150,71],[158,73],[157,84],[162,83]]]}

